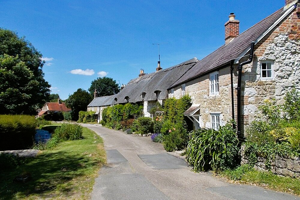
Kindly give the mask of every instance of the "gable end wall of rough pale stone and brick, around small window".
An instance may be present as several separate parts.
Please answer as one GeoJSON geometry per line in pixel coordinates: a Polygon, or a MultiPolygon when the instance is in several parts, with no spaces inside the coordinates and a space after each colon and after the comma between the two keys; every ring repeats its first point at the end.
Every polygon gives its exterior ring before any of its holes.
{"type": "Polygon", "coordinates": [[[245,124],[255,120],[258,107],[266,98],[276,99],[278,104],[292,86],[300,89],[300,20],[296,11],[255,45],[254,59],[243,67],[242,91],[245,124]],[[295,35],[298,34],[298,37],[295,35]],[[261,62],[273,62],[273,79],[261,79],[261,62]]]}

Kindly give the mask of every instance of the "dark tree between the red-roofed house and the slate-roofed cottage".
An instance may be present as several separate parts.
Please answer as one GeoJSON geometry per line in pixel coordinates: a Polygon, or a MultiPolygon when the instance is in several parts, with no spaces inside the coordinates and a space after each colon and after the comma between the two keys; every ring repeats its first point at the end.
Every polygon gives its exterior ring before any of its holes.
{"type": "Polygon", "coordinates": [[[72,109],[71,117],[73,121],[78,120],[79,111],[86,111],[88,104],[93,100],[93,96],[84,89],[77,89],[69,98],[65,100],[67,106],[72,109]]]}

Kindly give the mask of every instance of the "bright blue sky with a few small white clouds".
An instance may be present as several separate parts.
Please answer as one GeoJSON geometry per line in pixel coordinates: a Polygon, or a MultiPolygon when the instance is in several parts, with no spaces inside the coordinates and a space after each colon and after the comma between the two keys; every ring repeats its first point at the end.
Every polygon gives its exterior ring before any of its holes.
{"type": "Polygon", "coordinates": [[[240,33],[284,6],[284,0],[52,1],[0,0],[0,27],[25,36],[46,61],[51,93],[68,98],[98,76],[126,84],[161,67],[202,59],[224,44],[229,13],[240,33]],[[263,6],[262,6],[263,2],[263,6]]]}

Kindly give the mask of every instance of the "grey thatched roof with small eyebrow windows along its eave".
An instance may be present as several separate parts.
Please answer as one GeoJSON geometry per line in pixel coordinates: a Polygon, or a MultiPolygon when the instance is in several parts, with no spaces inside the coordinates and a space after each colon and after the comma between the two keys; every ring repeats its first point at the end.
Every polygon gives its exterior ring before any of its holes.
{"type": "Polygon", "coordinates": [[[141,102],[141,93],[145,92],[143,101],[155,101],[157,99],[168,98],[168,88],[176,82],[187,70],[194,66],[199,60],[196,58],[182,62],[170,68],[162,69],[151,74],[145,74],[142,77],[132,79],[127,85],[116,95],[117,102],[126,103],[125,97],[128,97],[128,102],[141,102]],[[161,91],[159,96],[156,96],[155,91],[161,91]]]}

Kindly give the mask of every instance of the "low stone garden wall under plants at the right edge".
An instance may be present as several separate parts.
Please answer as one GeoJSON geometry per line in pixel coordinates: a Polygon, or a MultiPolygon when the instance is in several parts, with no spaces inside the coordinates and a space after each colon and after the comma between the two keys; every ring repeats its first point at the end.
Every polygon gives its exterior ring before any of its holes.
{"type": "MultiPolygon", "coordinates": [[[[241,147],[241,165],[247,164],[248,160],[244,153],[244,146],[241,147]]],[[[280,176],[300,178],[300,158],[298,157],[280,157],[276,155],[275,160],[271,161],[271,167],[265,166],[266,159],[257,157],[257,163],[254,168],[258,171],[269,171],[280,176]]]]}

